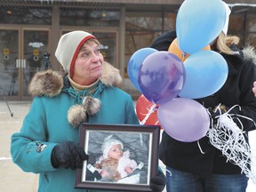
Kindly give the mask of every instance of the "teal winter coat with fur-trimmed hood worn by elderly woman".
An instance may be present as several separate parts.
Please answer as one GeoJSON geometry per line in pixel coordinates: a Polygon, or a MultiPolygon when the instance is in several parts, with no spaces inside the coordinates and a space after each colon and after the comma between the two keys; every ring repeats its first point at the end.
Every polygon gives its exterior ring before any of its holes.
{"type": "MultiPolygon", "coordinates": [[[[85,121],[92,124],[139,124],[132,97],[116,87],[121,78],[117,69],[108,63],[103,65],[105,69],[100,82],[91,95],[101,101],[100,111],[94,116],[87,116],[85,121]]],[[[74,188],[76,170],[55,169],[51,163],[55,145],[67,140],[78,142],[79,128],[68,123],[68,109],[74,105],[81,106],[83,97],[89,93],[75,92],[67,77],[63,81],[62,76],[53,71],[36,74],[29,91],[35,98],[20,132],[12,135],[12,161],[24,172],[40,174],[38,191],[100,191],[74,188]]]]}

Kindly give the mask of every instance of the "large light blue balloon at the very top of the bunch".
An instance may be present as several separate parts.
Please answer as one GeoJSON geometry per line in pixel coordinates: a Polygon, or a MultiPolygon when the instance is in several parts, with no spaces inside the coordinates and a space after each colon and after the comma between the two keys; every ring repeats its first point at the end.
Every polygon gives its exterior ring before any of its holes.
{"type": "Polygon", "coordinates": [[[192,54],[220,35],[226,21],[222,0],[186,0],[180,5],[176,32],[180,50],[192,54]]]}

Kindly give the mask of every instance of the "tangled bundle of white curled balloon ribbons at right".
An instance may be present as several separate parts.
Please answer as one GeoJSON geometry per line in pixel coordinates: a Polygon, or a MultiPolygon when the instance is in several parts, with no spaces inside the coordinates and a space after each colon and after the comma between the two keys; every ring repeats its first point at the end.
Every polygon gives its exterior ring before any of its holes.
{"type": "MultiPolygon", "coordinates": [[[[238,105],[233,106],[228,110],[228,112],[237,106],[238,105]]],[[[220,108],[218,108],[218,110],[220,110],[220,108]]],[[[207,132],[207,136],[209,137],[212,146],[218,148],[222,155],[227,157],[227,161],[238,165],[241,168],[241,171],[244,172],[248,178],[252,179],[254,183],[256,183],[256,173],[254,170],[252,170],[251,166],[253,163],[251,148],[244,139],[244,126],[242,122],[236,118],[242,127],[242,129],[240,129],[233,121],[234,118],[231,116],[240,116],[252,121],[253,123],[254,121],[247,116],[228,114],[228,112],[221,114],[220,110],[220,116],[217,124],[212,126],[209,132],[207,132]]]]}

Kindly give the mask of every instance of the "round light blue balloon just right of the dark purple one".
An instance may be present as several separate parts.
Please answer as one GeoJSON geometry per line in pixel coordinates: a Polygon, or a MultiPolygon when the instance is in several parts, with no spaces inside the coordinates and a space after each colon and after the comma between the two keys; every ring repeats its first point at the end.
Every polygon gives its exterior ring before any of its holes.
{"type": "Polygon", "coordinates": [[[228,78],[227,61],[218,52],[202,50],[184,61],[186,81],[180,97],[198,99],[220,90],[228,78]]]}

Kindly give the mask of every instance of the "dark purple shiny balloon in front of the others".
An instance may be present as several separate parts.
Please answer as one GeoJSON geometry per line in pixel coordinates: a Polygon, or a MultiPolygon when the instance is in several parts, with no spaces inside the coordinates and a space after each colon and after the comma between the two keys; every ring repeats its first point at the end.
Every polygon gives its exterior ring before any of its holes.
{"type": "Polygon", "coordinates": [[[185,68],[172,52],[154,52],[142,62],[138,82],[142,94],[149,101],[164,104],[181,92],[185,68]]]}

